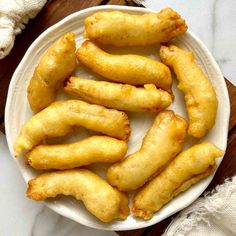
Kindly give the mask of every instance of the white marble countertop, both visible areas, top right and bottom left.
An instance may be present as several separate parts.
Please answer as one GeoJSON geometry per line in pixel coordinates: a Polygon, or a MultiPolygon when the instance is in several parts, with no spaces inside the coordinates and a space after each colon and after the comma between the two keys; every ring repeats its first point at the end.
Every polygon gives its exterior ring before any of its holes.
{"type": "MultiPolygon", "coordinates": [[[[146,0],[154,10],[173,7],[209,48],[223,74],[236,85],[236,0],[146,0]]],[[[25,197],[26,184],[0,134],[0,235],[87,236],[116,235],[92,230],[54,213],[25,197]],[[96,232],[96,233],[95,233],[96,232]]]]}

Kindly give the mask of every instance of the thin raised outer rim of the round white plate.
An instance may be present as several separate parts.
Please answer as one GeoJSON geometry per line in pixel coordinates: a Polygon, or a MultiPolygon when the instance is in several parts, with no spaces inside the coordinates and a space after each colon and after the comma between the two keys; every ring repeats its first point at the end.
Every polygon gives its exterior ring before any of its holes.
{"type": "MultiPolygon", "coordinates": [[[[6,106],[5,106],[5,131],[6,131],[6,138],[7,138],[7,144],[8,144],[8,147],[9,147],[9,150],[10,150],[10,153],[11,153],[11,156],[12,158],[14,159],[14,161],[17,163],[17,166],[18,166],[18,169],[20,170],[21,172],[21,175],[23,177],[23,179],[26,181],[25,177],[24,177],[24,174],[23,174],[23,170],[22,168],[20,167],[20,164],[16,161],[16,158],[14,157],[13,155],[13,149],[12,149],[12,145],[10,143],[10,140],[9,140],[9,133],[10,133],[10,125],[9,123],[7,122],[7,120],[9,120],[9,116],[10,116],[10,107],[11,107],[11,101],[12,101],[12,94],[13,94],[13,91],[14,91],[14,88],[15,88],[15,85],[16,85],[16,82],[17,82],[17,75],[18,73],[22,70],[23,68],[23,64],[25,61],[27,61],[29,55],[32,53],[35,45],[38,44],[38,42],[44,38],[48,33],[50,33],[50,31],[53,31],[54,29],[56,29],[57,27],[60,27],[60,25],[64,24],[64,22],[66,21],[69,21],[70,19],[72,19],[73,17],[77,17],[78,15],[80,14],[83,14],[83,13],[87,13],[87,12],[91,12],[93,10],[128,10],[128,11],[139,11],[139,12],[142,12],[142,13],[150,13],[150,12],[156,12],[154,10],[151,10],[151,9],[148,9],[148,8],[141,8],[141,7],[131,7],[131,6],[120,6],[120,5],[105,5],[105,6],[93,6],[93,7],[89,7],[89,8],[86,8],[86,9],[83,9],[83,10],[79,10],[79,11],[76,11],[68,16],[66,16],[65,18],[61,19],[59,22],[57,22],[56,24],[50,26],[49,28],[47,28],[45,31],[43,31],[33,42],[32,44],[29,46],[29,48],[27,49],[26,53],[24,54],[23,58],[21,59],[20,63],[18,64],[16,70],[14,71],[13,75],[12,75],[12,78],[11,78],[11,81],[10,81],[10,84],[9,84],[9,88],[8,88],[8,93],[7,93],[7,100],[6,100],[6,106]]],[[[199,46],[201,48],[204,49],[205,51],[205,54],[210,58],[211,60],[211,64],[214,68],[214,70],[217,72],[217,74],[220,75],[221,77],[221,87],[223,89],[223,92],[224,92],[224,97],[226,99],[226,104],[225,104],[225,111],[227,114],[225,114],[225,117],[227,119],[227,124],[226,124],[226,128],[228,130],[228,126],[229,126],[229,118],[230,118],[230,100],[229,100],[229,93],[228,93],[228,89],[227,89],[227,85],[226,85],[226,82],[224,80],[224,77],[223,77],[223,74],[217,64],[217,62],[215,61],[214,57],[212,56],[211,52],[208,50],[208,48],[205,46],[205,44],[193,33],[191,32],[190,30],[188,30],[186,32],[186,34],[189,34],[192,38],[194,38],[194,40],[199,44],[199,46]]],[[[224,144],[222,144],[222,146],[224,146],[224,150],[226,150],[226,147],[227,147],[227,136],[228,136],[228,132],[226,134],[224,134],[224,144]]],[[[223,158],[222,158],[223,159],[223,158]]],[[[209,179],[209,183],[208,185],[211,183],[213,177],[215,175],[215,172],[214,174],[212,174],[210,176],[210,179],[209,179]]],[[[208,186],[207,185],[207,186],[208,186]]],[[[206,187],[207,187],[206,186],[206,187]]],[[[205,191],[205,189],[203,190],[205,191]]],[[[183,204],[181,207],[176,207],[176,209],[174,211],[172,211],[170,214],[167,214],[167,216],[164,218],[168,218],[169,216],[175,214],[176,212],[184,209],[185,207],[189,206],[192,202],[194,202],[199,196],[201,195],[201,193],[196,196],[195,198],[191,199],[191,201],[186,201],[185,204],[183,204]]],[[[70,214],[67,214],[65,212],[63,212],[63,210],[60,210],[59,208],[57,207],[54,207],[52,204],[48,203],[48,202],[42,202],[44,205],[46,205],[47,207],[49,207],[50,209],[52,209],[53,211],[57,212],[58,214],[64,216],[64,217],[67,217],[71,220],[74,220],[76,221],[77,223],[80,223],[80,224],[83,224],[85,226],[88,226],[88,227],[91,227],[91,228],[96,228],[96,229],[101,229],[101,230],[108,230],[108,231],[123,231],[123,230],[134,230],[134,229],[139,229],[139,228],[146,228],[148,226],[151,226],[151,225],[154,225],[158,222],[161,222],[162,220],[159,220],[159,221],[156,221],[156,222],[152,222],[151,220],[150,221],[144,221],[144,226],[132,226],[132,225],[129,225],[129,226],[126,226],[124,225],[123,227],[120,228],[120,226],[112,226],[112,225],[107,225],[107,226],[98,226],[98,225],[93,225],[92,222],[90,222],[89,224],[87,222],[78,222],[76,219],[74,219],[70,214]]]]}

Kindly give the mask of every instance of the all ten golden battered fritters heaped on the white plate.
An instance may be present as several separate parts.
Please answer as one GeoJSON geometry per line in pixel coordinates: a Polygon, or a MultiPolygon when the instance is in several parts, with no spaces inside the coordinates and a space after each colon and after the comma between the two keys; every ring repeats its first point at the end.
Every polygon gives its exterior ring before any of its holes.
{"type": "Polygon", "coordinates": [[[54,171],[28,182],[29,198],[40,201],[71,195],[98,219],[110,222],[127,218],[126,194],[136,190],[131,212],[148,220],[216,169],[215,159],[224,152],[214,144],[202,142],[182,151],[187,135],[202,138],[214,126],[218,104],[193,52],[167,44],[186,30],[184,19],[169,8],[144,15],[97,12],[85,19],[87,40],[77,50],[74,33],[67,33],[46,51],[28,86],[28,101],[37,114],[22,126],[14,152],[15,156],[24,153],[35,169],[54,171]],[[111,55],[101,49],[103,45],[153,44],[161,44],[161,62],[140,55],[111,55]],[[71,76],[77,60],[113,82],[71,76]],[[174,99],[169,68],[184,94],[188,121],[165,110],[174,99]],[[80,100],[54,101],[62,85],[80,100]],[[125,158],[131,130],[124,111],[157,113],[140,150],[125,158]],[[77,126],[104,136],[42,144],[77,126]],[[107,181],[81,168],[98,162],[112,163],[107,181]]]}

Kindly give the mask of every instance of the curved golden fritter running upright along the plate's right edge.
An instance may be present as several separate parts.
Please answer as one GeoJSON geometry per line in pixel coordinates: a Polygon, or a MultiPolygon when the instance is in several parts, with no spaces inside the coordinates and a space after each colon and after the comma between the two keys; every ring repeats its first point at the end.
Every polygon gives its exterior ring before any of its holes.
{"type": "Polygon", "coordinates": [[[174,69],[179,81],[178,88],[184,93],[189,116],[188,134],[196,138],[203,137],[215,124],[218,106],[211,82],[196,64],[192,52],[174,45],[162,46],[160,57],[174,69]]]}

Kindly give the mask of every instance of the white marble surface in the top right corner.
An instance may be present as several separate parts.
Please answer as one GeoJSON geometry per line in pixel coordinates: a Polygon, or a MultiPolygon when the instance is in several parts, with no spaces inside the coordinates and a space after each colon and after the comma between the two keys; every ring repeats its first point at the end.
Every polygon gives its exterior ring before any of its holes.
{"type": "Polygon", "coordinates": [[[236,86],[236,0],[136,0],[147,8],[171,7],[208,47],[236,86]]]}

